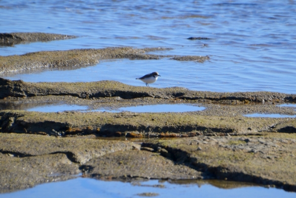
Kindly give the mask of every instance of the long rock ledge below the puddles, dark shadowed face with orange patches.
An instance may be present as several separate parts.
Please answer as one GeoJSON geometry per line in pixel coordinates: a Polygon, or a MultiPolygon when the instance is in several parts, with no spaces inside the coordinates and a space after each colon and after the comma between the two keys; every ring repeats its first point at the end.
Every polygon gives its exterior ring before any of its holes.
{"type": "Polygon", "coordinates": [[[107,113],[1,111],[0,131],[53,136],[188,137],[294,133],[293,118],[201,116],[194,113],[107,113]],[[288,130],[286,130],[288,129],[288,130]]]}

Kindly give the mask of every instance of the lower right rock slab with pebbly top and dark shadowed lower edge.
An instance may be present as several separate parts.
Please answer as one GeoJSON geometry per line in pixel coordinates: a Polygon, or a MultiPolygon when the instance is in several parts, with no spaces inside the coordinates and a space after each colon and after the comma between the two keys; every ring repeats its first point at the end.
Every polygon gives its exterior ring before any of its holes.
{"type": "Polygon", "coordinates": [[[210,178],[253,182],[296,191],[296,136],[207,137],[154,140],[178,163],[186,163],[210,178]],[[198,149],[201,147],[202,150],[198,149]]]}

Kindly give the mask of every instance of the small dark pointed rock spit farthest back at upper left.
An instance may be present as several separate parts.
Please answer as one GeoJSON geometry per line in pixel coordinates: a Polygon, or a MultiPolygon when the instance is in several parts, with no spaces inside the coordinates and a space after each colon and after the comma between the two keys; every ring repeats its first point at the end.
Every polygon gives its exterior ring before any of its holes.
{"type": "Polygon", "coordinates": [[[60,35],[51,33],[0,33],[0,45],[13,46],[14,44],[36,42],[36,41],[51,41],[51,40],[65,40],[74,39],[73,35],[60,35]]]}

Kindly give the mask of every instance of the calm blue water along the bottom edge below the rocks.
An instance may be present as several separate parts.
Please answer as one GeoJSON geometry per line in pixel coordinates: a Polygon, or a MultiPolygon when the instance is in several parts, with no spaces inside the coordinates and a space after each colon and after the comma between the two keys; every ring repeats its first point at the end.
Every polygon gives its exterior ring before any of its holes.
{"type": "MultiPolygon", "coordinates": [[[[220,182],[226,186],[227,182],[220,182]]],[[[233,182],[229,182],[232,188],[233,182]]],[[[221,189],[210,184],[184,183],[174,184],[167,181],[159,182],[150,180],[141,182],[137,186],[131,183],[100,181],[88,178],[77,178],[65,182],[54,182],[38,185],[32,189],[0,194],[0,198],[139,198],[137,194],[156,193],[156,198],[181,198],[181,197],[201,197],[213,198],[213,195],[224,198],[294,198],[295,193],[288,193],[275,188],[263,188],[258,186],[246,187],[245,184],[237,183],[234,189],[221,189]],[[148,186],[150,185],[150,186],[148,186]],[[165,188],[151,187],[151,185],[164,185],[165,188]]],[[[219,182],[216,182],[219,184],[219,182]]]]}

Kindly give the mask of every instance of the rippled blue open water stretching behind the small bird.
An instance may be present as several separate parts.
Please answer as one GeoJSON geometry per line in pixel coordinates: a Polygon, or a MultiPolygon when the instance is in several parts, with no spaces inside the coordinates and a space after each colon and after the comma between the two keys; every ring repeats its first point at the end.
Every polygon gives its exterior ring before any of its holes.
{"type": "Polygon", "coordinates": [[[118,60],[100,63],[97,69],[46,72],[38,74],[39,79],[34,75],[4,77],[25,81],[114,79],[144,86],[135,78],[157,71],[161,77],[153,87],[295,93],[295,13],[293,0],[1,0],[0,32],[59,33],[79,38],[0,47],[0,55],[112,46],[173,47],[158,53],[209,55],[211,59],[203,64],[118,60]],[[186,40],[188,37],[212,40],[186,40]],[[88,79],[94,71],[97,76],[88,79]],[[71,79],[73,72],[77,75],[71,79]]]}

